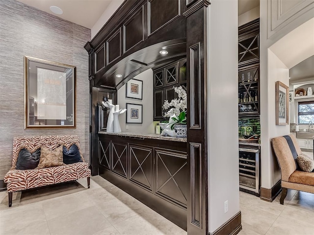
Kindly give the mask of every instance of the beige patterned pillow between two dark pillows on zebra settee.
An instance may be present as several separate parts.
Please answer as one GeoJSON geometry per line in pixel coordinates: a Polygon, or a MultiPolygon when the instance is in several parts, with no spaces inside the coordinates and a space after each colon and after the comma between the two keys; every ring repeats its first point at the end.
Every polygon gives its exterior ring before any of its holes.
{"type": "Polygon", "coordinates": [[[62,150],[63,150],[62,145],[60,145],[59,147],[55,148],[52,151],[50,151],[46,147],[42,147],[41,153],[40,153],[39,164],[36,167],[36,169],[63,165],[63,151],[62,150]]]}

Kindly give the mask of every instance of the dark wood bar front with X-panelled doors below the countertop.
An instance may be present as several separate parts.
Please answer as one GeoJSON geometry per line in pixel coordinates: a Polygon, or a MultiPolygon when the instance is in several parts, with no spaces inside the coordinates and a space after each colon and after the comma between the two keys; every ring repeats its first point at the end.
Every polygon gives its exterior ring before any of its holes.
{"type": "Polygon", "coordinates": [[[100,175],[186,229],[186,142],[99,134],[98,160],[100,175]]]}

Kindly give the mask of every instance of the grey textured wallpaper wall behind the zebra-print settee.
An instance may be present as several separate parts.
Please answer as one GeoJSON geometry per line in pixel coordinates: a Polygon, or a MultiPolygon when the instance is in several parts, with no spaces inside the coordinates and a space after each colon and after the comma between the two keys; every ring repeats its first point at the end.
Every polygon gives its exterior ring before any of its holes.
{"type": "Polygon", "coordinates": [[[89,162],[88,54],[90,29],[64,21],[15,0],[0,0],[0,179],[11,167],[15,136],[79,136],[89,162]],[[23,56],[77,67],[76,129],[24,129],[23,56]]]}

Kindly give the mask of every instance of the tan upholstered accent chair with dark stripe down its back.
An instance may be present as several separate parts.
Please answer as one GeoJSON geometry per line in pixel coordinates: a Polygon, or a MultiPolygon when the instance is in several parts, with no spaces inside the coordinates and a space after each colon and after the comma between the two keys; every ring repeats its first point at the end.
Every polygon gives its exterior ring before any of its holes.
{"type": "Polygon", "coordinates": [[[296,138],[281,136],[273,138],[271,143],[281,172],[280,204],[284,205],[288,188],[314,193],[314,172],[301,171],[296,163],[297,156],[302,154],[296,138]]]}

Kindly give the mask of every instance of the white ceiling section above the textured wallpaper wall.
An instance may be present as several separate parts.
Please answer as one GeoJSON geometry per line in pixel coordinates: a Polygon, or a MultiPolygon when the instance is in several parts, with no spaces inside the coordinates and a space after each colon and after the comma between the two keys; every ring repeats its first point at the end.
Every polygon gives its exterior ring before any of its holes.
{"type": "Polygon", "coordinates": [[[64,20],[92,28],[105,9],[113,0],[17,0],[35,7],[64,20]],[[50,6],[58,6],[63,10],[62,15],[56,15],[50,6]]]}

